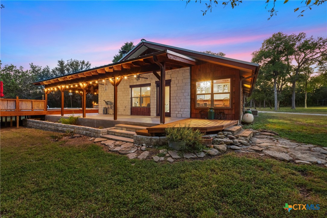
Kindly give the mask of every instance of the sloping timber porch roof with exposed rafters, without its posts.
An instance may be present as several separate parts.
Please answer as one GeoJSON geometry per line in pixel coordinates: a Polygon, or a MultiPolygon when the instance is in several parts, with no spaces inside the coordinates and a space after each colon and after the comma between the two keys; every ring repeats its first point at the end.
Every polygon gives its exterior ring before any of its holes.
{"type": "MultiPolygon", "coordinates": [[[[72,86],[80,89],[79,83],[97,82],[103,79],[112,79],[115,77],[127,77],[137,74],[160,71],[160,67],[154,62],[157,58],[160,62],[165,62],[166,70],[189,67],[197,64],[196,59],[189,58],[169,50],[155,52],[134,59],[124,60],[73,74],[50,78],[34,82],[34,85],[44,85],[45,88],[55,88],[58,86],[72,86]]],[[[90,86],[88,87],[90,88],[90,86]]]]}

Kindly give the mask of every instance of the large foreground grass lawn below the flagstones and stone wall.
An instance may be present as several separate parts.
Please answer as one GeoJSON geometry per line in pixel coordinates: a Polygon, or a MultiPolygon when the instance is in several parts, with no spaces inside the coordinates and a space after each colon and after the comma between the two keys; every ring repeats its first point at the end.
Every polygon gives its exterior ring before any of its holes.
{"type": "Polygon", "coordinates": [[[327,168],[253,154],[155,163],[1,129],[1,217],[326,217],[327,168]],[[319,204],[320,210],[283,209],[319,204]]]}

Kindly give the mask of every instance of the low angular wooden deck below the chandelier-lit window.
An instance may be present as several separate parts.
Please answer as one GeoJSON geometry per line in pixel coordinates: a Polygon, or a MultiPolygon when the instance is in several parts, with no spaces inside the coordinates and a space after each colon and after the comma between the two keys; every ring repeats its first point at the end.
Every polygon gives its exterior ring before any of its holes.
{"type": "Polygon", "coordinates": [[[237,125],[238,120],[207,120],[207,119],[199,119],[199,118],[186,118],[183,120],[175,121],[168,124],[151,126],[147,127],[146,130],[136,131],[137,135],[150,136],[154,133],[164,133],[165,128],[167,127],[178,127],[190,125],[193,129],[198,129],[201,132],[211,132],[223,130],[227,127],[237,125]]]}

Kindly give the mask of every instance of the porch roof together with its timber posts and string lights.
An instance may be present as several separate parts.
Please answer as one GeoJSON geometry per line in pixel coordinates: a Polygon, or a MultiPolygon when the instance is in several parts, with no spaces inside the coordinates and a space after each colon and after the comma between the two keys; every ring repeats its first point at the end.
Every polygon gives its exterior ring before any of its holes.
{"type": "MultiPolygon", "coordinates": [[[[51,78],[43,81],[35,82],[34,85],[44,85],[45,101],[47,101],[47,94],[50,92],[61,92],[61,116],[64,115],[63,98],[64,92],[76,92],[82,96],[82,113],[81,117],[86,118],[86,94],[96,93],[98,90],[98,84],[109,80],[114,87],[113,93],[113,115],[101,116],[99,114],[92,115],[93,119],[98,117],[99,119],[116,121],[117,118],[117,105],[119,103],[118,85],[128,77],[139,77],[142,74],[152,73],[160,81],[160,102],[159,102],[159,117],[152,118],[138,118],[145,119],[144,123],[151,122],[151,124],[164,124],[165,118],[165,74],[166,70],[179,69],[184,67],[190,67],[197,64],[196,59],[189,58],[176,52],[169,50],[163,50],[154,52],[151,54],[143,55],[140,57],[120,61],[104,65],[101,67],[92,68],[89,70],[64,75],[56,78],[51,78]],[[160,72],[160,73],[158,73],[160,72]],[[159,118],[159,119],[158,119],[159,118]],[[154,123],[153,123],[154,122],[154,123]]],[[[88,116],[90,116],[88,114],[88,116]]],[[[124,117],[122,117],[124,119],[124,117]]],[[[126,118],[126,121],[130,121],[126,118]]],[[[171,118],[175,119],[175,118],[171,118]]],[[[178,119],[178,118],[177,118],[178,119]]],[[[170,119],[168,119],[170,121],[170,119]]]]}

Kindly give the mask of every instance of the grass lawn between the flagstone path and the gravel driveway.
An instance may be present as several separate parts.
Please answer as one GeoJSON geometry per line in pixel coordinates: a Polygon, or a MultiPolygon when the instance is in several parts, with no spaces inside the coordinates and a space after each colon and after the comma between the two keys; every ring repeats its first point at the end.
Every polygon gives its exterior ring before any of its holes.
{"type": "Polygon", "coordinates": [[[260,113],[243,128],[276,131],[283,138],[327,147],[327,117],[317,115],[260,113]]]}

